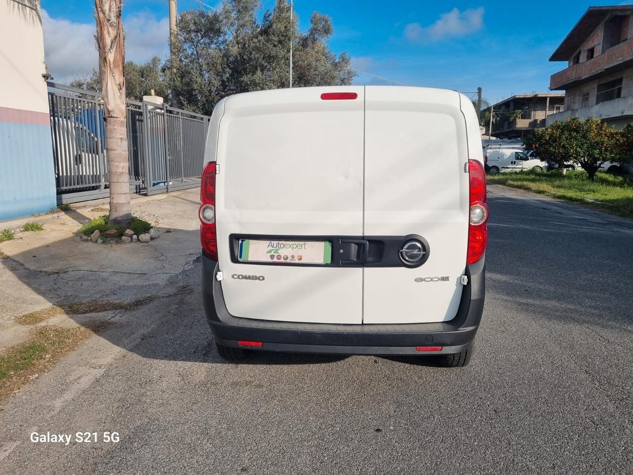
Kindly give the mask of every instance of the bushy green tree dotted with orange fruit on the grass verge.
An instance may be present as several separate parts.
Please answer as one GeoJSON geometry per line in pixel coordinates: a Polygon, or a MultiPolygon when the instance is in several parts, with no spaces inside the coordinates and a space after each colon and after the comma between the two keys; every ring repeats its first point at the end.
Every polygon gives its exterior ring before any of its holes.
{"type": "Polygon", "coordinates": [[[603,163],[622,161],[620,132],[591,117],[556,121],[536,129],[525,142],[536,156],[555,162],[560,168],[580,165],[591,181],[603,163]]]}

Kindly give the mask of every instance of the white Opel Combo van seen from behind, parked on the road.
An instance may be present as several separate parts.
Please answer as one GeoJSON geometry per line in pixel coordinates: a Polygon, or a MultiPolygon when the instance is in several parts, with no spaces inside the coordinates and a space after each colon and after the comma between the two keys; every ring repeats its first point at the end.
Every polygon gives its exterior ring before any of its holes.
{"type": "Polygon", "coordinates": [[[306,87],[222,99],[199,210],[220,355],[468,364],[484,305],[481,150],[472,103],[455,91],[306,87]]]}

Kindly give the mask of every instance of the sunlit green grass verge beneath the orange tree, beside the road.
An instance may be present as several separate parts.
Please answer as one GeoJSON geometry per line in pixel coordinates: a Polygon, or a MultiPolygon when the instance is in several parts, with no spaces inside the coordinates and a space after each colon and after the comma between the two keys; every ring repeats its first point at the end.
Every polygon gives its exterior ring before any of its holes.
{"type": "Polygon", "coordinates": [[[584,171],[573,170],[563,175],[555,170],[488,175],[487,182],[527,189],[633,218],[633,183],[626,177],[598,173],[591,182],[584,171]]]}

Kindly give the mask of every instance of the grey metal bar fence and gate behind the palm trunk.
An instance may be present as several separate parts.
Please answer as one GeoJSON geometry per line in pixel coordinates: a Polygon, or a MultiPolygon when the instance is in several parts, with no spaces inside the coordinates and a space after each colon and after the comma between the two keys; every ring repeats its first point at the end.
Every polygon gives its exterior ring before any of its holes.
{"type": "MultiPolygon", "coordinates": [[[[47,84],[58,202],[110,196],[101,96],[47,84]]],[[[209,121],[191,111],[128,100],[130,191],[149,195],[198,186],[209,121]]]]}

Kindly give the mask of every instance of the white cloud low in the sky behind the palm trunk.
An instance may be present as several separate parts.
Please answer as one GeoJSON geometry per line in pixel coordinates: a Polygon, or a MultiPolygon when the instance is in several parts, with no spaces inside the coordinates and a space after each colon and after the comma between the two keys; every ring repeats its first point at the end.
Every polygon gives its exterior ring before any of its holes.
{"type": "MultiPolygon", "coordinates": [[[[90,75],[97,67],[94,22],[80,23],[51,18],[42,10],[44,53],[49,72],[57,82],[68,84],[75,76],[90,75]]],[[[125,59],[148,61],[152,56],[165,58],[169,51],[169,20],[147,12],[123,17],[125,59]]]]}

